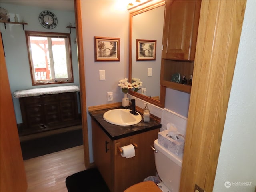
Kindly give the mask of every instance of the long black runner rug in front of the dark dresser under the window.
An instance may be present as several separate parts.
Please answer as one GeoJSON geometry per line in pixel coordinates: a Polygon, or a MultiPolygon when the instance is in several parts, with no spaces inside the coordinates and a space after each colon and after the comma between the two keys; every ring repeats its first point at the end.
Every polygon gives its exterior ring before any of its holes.
{"type": "Polygon", "coordinates": [[[82,129],[20,142],[23,160],[83,144],[82,129]]]}

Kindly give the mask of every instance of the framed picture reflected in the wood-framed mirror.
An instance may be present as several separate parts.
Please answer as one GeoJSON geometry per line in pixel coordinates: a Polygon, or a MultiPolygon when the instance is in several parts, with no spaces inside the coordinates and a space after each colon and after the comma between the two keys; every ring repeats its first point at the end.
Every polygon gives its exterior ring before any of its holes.
{"type": "Polygon", "coordinates": [[[156,60],[156,40],[136,40],[136,61],[156,60]]]}

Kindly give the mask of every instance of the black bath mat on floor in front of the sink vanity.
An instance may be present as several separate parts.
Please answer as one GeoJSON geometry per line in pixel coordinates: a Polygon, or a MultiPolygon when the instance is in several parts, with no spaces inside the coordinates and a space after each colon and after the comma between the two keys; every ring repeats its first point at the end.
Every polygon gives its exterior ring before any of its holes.
{"type": "Polygon", "coordinates": [[[68,192],[110,192],[96,168],[75,173],[66,178],[68,192]]]}

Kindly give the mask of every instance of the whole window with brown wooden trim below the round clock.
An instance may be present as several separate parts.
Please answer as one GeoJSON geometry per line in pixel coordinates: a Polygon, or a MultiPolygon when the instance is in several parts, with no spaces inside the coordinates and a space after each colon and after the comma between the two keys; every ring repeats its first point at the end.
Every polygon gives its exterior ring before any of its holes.
{"type": "Polygon", "coordinates": [[[70,34],[26,31],[33,85],[71,83],[70,34]]]}

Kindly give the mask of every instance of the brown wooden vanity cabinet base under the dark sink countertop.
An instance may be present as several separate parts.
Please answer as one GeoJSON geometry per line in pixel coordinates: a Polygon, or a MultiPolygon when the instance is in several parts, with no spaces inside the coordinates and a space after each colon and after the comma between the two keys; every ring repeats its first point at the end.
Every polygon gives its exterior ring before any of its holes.
{"type": "Polygon", "coordinates": [[[111,140],[92,119],[92,143],[94,163],[111,192],[123,192],[126,188],[156,175],[154,152],[151,146],[157,139],[159,128],[111,140]],[[126,159],[118,152],[118,146],[138,145],[135,157],[126,159]]]}

